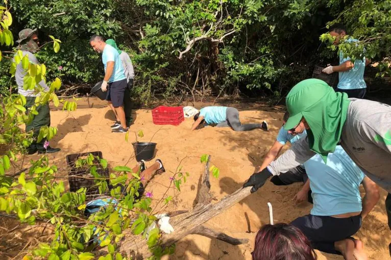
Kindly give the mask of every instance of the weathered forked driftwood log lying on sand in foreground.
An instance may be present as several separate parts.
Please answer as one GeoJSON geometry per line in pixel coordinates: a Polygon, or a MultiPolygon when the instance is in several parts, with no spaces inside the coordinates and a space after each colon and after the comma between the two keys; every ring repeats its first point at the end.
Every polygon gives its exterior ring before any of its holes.
{"type": "MultiPolygon", "coordinates": [[[[239,189],[233,194],[224,197],[217,203],[212,204],[210,202],[212,196],[209,193],[209,161],[210,155],[205,165],[201,188],[198,190],[196,198],[197,204],[195,204],[193,210],[190,212],[171,216],[170,224],[174,227],[175,231],[170,234],[163,233],[161,236],[163,247],[173,245],[190,234],[198,234],[208,238],[215,238],[231,245],[248,243],[248,239],[235,239],[223,232],[211,230],[210,228],[203,226],[203,224],[209,219],[223,213],[235,203],[249,196],[251,190],[251,187],[239,189]]],[[[118,249],[121,253],[132,256],[133,259],[143,259],[151,256],[151,251],[148,249],[146,240],[141,236],[132,235],[131,232],[126,234],[118,249]]]]}

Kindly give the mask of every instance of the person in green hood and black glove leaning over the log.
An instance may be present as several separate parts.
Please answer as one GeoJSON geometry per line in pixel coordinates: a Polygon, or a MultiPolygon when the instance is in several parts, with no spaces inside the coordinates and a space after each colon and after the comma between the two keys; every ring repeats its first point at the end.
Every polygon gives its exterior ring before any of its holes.
{"type": "MultiPolygon", "coordinates": [[[[269,177],[294,168],[315,154],[326,163],[328,153],[341,145],[354,163],[388,192],[385,206],[391,229],[391,107],[376,101],[348,98],[324,81],[309,79],[294,86],[286,97],[290,133],[307,131],[292,147],[243,185],[251,193],[269,177]]],[[[283,173],[281,173],[283,174],[283,173]]],[[[390,244],[391,249],[391,244],[390,244]]]]}

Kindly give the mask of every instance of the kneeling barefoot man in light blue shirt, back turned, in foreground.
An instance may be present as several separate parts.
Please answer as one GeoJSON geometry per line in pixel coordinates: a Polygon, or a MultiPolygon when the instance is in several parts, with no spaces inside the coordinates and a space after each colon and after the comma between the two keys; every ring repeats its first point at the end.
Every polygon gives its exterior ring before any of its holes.
{"type": "Polygon", "coordinates": [[[304,163],[309,180],[296,196],[312,190],[311,214],[295,219],[292,225],[303,231],[314,249],[343,254],[345,259],[365,259],[361,241],[350,238],[379,200],[377,185],[337,145],[327,164],[316,154],[304,163]],[[361,199],[362,183],[365,196],[361,199]]]}

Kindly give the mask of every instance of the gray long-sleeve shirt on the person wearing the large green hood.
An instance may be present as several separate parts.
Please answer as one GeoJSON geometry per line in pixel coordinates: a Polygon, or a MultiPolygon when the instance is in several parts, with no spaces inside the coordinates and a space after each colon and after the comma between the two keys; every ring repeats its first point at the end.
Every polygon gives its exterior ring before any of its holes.
{"type": "MultiPolygon", "coordinates": [[[[366,176],[391,193],[391,107],[365,99],[350,100],[340,145],[366,176]]],[[[302,138],[267,168],[279,175],[313,155],[308,138],[302,138]]]]}

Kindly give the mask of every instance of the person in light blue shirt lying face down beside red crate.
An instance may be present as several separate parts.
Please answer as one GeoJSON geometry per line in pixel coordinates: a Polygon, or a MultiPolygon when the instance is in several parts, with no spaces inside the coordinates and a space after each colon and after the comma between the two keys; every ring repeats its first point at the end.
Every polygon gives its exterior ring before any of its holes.
{"type": "Polygon", "coordinates": [[[234,131],[250,131],[256,128],[268,130],[266,121],[263,121],[261,124],[241,124],[239,111],[230,107],[202,108],[199,113],[194,115],[191,131],[195,130],[200,124],[215,125],[217,127],[230,126],[234,131]]]}

